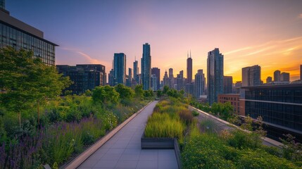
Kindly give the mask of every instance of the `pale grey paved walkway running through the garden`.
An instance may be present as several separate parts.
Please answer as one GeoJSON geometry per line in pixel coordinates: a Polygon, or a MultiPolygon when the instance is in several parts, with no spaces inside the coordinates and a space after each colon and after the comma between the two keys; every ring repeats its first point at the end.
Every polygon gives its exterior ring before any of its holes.
{"type": "Polygon", "coordinates": [[[178,168],[173,149],[141,149],[141,135],[157,102],[149,104],[78,168],[178,168]]]}

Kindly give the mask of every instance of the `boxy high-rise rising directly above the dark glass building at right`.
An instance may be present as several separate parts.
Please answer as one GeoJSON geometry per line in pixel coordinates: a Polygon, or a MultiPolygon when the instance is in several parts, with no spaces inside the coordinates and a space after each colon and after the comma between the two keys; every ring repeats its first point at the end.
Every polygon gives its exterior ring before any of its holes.
{"type": "Polygon", "coordinates": [[[253,65],[242,68],[242,87],[258,86],[261,84],[261,67],[253,65]]]}

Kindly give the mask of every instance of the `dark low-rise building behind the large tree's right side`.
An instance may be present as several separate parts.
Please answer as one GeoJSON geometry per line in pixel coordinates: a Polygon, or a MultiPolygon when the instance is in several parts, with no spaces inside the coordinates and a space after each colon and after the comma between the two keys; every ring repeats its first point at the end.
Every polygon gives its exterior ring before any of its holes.
{"type": "Polygon", "coordinates": [[[69,76],[73,84],[64,89],[70,90],[73,94],[83,94],[87,89],[92,90],[97,86],[106,85],[106,68],[104,65],[56,65],[58,73],[64,77],[69,76]]]}

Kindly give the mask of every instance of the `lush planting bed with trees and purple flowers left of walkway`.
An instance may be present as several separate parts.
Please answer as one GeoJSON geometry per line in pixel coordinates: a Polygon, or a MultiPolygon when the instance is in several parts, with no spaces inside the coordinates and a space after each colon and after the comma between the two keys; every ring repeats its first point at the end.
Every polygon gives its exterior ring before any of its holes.
{"type": "Polygon", "coordinates": [[[70,84],[31,51],[0,49],[0,168],[58,168],[153,99],[118,84],[60,96],[70,84]]]}

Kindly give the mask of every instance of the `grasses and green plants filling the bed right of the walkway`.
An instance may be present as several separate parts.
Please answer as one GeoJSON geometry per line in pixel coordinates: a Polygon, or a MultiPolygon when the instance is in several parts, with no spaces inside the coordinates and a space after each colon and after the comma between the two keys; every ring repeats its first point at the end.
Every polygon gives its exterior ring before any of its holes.
{"type": "Polygon", "coordinates": [[[242,130],[230,126],[226,129],[190,111],[183,100],[168,97],[158,102],[145,129],[146,137],[179,139],[183,168],[302,167],[301,144],[292,138],[283,140],[282,149],[262,144],[265,131],[261,119],[256,126],[246,118],[242,130]]]}

